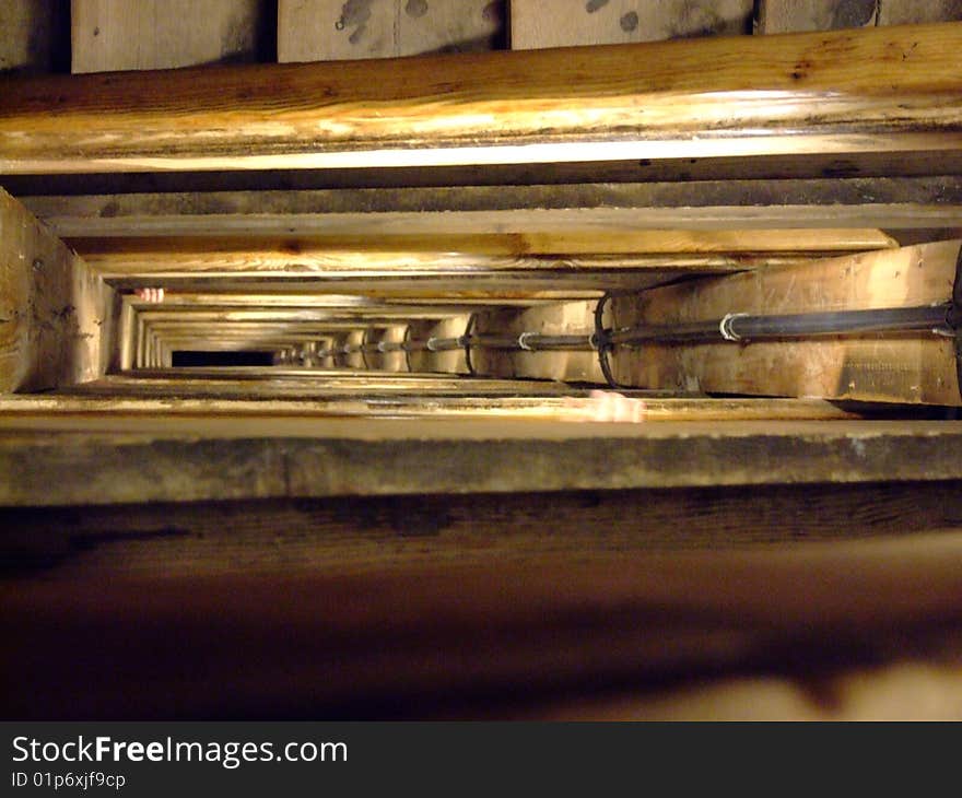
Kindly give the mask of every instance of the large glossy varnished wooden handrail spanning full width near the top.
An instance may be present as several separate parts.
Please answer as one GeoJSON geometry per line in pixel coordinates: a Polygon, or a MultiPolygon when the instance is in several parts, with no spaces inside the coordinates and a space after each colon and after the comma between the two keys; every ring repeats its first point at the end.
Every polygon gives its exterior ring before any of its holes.
{"type": "Polygon", "coordinates": [[[0,172],[953,153],[960,45],[940,23],[24,79],[0,95],[0,172]]]}

